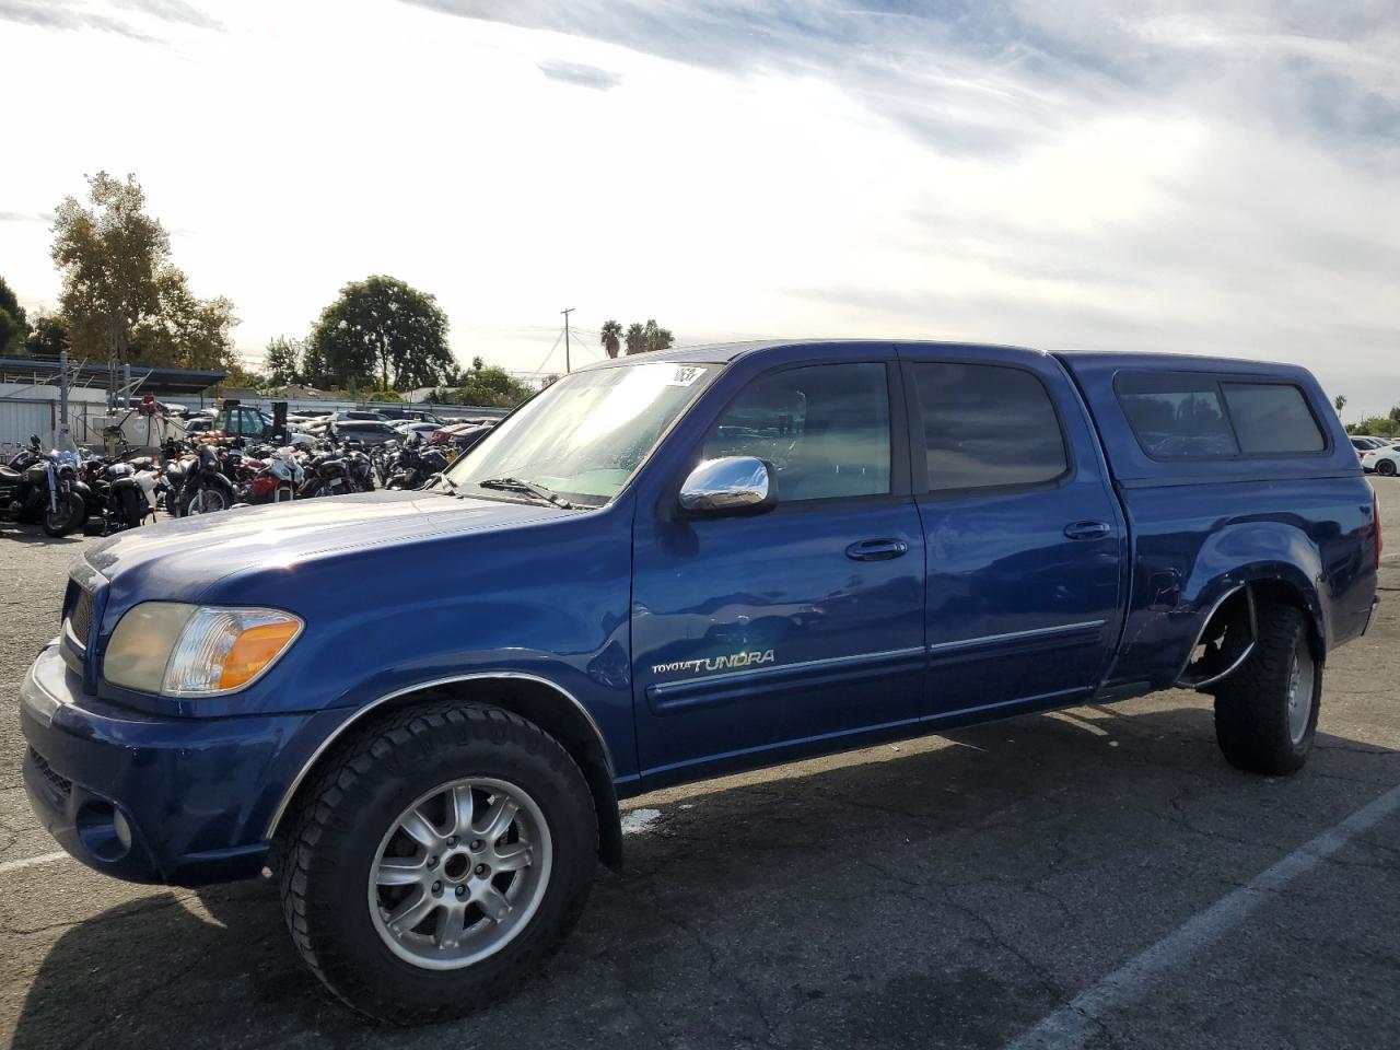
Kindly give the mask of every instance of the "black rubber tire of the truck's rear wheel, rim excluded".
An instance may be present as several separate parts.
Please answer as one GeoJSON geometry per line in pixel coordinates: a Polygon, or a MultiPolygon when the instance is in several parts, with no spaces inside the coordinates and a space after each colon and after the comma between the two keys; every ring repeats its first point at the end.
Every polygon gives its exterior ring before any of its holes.
{"type": "Polygon", "coordinates": [[[1308,620],[1292,605],[1259,610],[1254,651],[1233,675],[1214,686],[1215,739],[1225,760],[1249,773],[1296,773],[1312,752],[1317,731],[1323,666],[1312,650],[1308,620]],[[1289,729],[1288,697],[1294,654],[1313,659],[1310,708],[1302,738],[1289,729]]]}

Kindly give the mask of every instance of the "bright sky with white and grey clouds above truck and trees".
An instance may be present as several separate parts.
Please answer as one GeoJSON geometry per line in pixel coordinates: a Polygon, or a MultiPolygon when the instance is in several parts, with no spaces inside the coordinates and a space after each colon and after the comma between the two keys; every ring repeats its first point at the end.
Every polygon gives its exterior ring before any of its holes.
{"type": "Polygon", "coordinates": [[[106,168],[251,360],[389,272],[519,371],[575,307],[584,340],[1221,353],[1400,400],[1393,0],[0,0],[0,31],[45,84],[0,183],[31,302],[45,214],[106,168]]]}

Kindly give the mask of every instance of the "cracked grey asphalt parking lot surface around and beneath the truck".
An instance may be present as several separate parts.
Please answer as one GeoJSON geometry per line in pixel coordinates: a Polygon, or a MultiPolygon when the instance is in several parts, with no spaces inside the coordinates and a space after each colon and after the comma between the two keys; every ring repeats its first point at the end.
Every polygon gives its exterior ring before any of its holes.
{"type": "MultiPolygon", "coordinates": [[[[1400,785],[1400,480],[1376,487],[1392,552],[1383,605],[1329,662],[1317,750],[1298,776],[1232,770],[1210,699],[1172,692],[647,795],[627,804],[627,869],[599,871],[547,970],[437,1028],[377,1028],[330,1001],[266,883],[189,892],[66,858],[17,867],[56,847],[20,785],[11,700],[0,717],[0,1040],[1005,1047],[1107,987],[1119,997],[1085,1014],[1082,1037],[1036,1044],[1400,1046],[1400,813],[1326,857],[1299,853],[1400,785]],[[1291,881],[1259,881],[1298,855],[1309,867],[1291,881]],[[1252,910],[1218,937],[1163,949],[1191,941],[1203,913],[1232,914],[1242,888],[1252,910]],[[1154,951],[1168,963],[1144,977],[1131,960],[1154,951]]],[[[0,535],[11,699],[56,633],[84,542],[0,535]]]]}

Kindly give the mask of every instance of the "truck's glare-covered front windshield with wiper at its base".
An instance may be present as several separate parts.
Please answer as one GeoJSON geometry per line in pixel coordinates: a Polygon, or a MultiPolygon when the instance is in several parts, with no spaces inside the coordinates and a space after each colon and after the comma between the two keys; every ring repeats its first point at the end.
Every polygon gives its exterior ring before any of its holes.
{"type": "Polygon", "coordinates": [[[482,438],[448,477],[458,487],[529,482],[570,503],[602,507],[714,372],[713,365],[655,361],[566,375],[482,438]]]}

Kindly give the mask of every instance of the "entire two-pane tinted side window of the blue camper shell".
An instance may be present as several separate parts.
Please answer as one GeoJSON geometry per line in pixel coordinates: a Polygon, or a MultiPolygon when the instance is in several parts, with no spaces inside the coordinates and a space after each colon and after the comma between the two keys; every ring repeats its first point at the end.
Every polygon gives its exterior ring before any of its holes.
{"type": "Polygon", "coordinates": [[[1158,372],[1120,375],[1114,389],[1138,444],[1156,459],[1301,455],[1327,445],[1292,384],[1158,372]]]}

